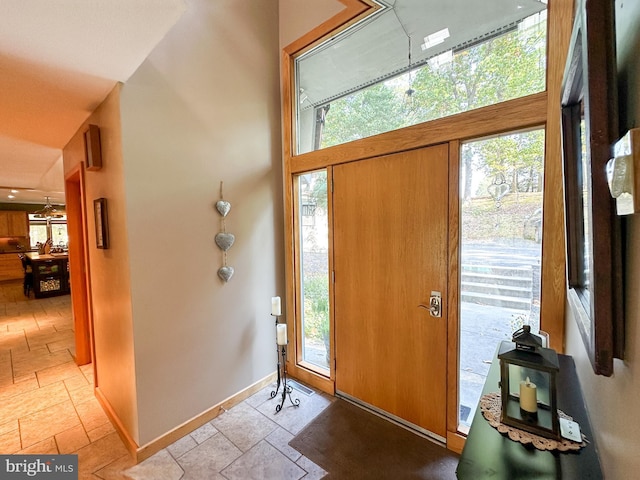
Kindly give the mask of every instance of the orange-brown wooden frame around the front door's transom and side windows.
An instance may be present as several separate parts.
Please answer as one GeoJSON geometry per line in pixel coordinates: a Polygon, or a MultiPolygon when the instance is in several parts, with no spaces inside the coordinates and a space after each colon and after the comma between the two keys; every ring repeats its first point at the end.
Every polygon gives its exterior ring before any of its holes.
{"type": "MultiPolygon", "coordinates": [[[[458,229],[458,157],[460,141],[467,138],[489,136],[506,131],[514,131],[530,127],[546,127],[545,140],[546,163],[550,159],[559,159],[559,115],[554,107],[558,105],[560,96],[560,82],[562,69],[565,62],[565,48],[569,43],[573,2],[554,2],[549,9],[547,18],[547,90],[527,97],[509,100],[503,103],[490,105],[463,112],[452,117],[429,121],[414,125],[375,137],[356,140],[351,143],[336,145],[319,151],[304,154],[295,154],[296,140],[296,112],[295,112],[295,57],[304,53],[314,45],[323,41],[330,35],[357,22],[363,16],[376,9],[376,4],[369,0],[341,0],[345,8],[334,17],[297,41],[286,46],[281,55],[282,74],[282,118],[283,118],[283,185],[284,185],[284,243],[285,243],[285,280],[286,280],[286,307],[288,312],[294,312],[294,318],[288,322],[289,334],[296,338],[296,349],[299,345],[298,319],[300,303],[298,300],[296,273],[296,222],[294,211],[295,186],[293,176],[298,173],[313,171],[320,168],[331,170],[333,165],[349,161],[357,161],[365,158],[380,156],[397,151],[421,148],[424,146],[449,142],[450,145],[450,272],[449,283],[456,285],[459,275],[459,259],[457,249],[459,239],[458,229]],[[554,49],[550,50],[549,46],[554,49]]],[[[560,162],[545,164],[543,211],[543,264],[542,264],[542,292],[541,292],[541,328],[550,334],[551,346],[558,351],[563,351],[564,345],[564,308],[565,292],[557,286],[564,283],[565,277],[565,251],[564,251],[564,220],[562,209],[557,205],[562,204],[562,169],[560,162]]],[[[329,196],[331,203],[331,195],[329,196]]],[[[331,207],[330,207],[331,208],[331,207]]],[[[329,226],[330,235],[331,224],[329,226]]],[[[331,239],[329,240],[331,243],[331,239]]],[[[332,247],[331,247],[332,248],[332,247]]],[[[330,271],[333,271],[332,258],[330,257],[330,271]]],[[[330,284],[330,322],[334,328],[333,311],[333,282],[330,284]]],[[[449,289],[447,299],[448,321],[448,358],[449,365],[448,383],[457,385],[457,355],[458,355],[458,313],[457,313],[458,287],[449,289]]],[[[334,346],[331,346],[332,361],[335,362],[334,346]]],[[[297,362],[296,352],[290,354],[287,359],[287,368],[292,376],[307,382],[310,385],[329,394],[335,393],[334,364],[331,365],[331,376],[326,378],[305,368],[297,362]]],[[[453,450],[461,451],[464,444],[464,436],[457,431],[457,388],[449,389],[447,398],[447,446],[453,450]]]]}

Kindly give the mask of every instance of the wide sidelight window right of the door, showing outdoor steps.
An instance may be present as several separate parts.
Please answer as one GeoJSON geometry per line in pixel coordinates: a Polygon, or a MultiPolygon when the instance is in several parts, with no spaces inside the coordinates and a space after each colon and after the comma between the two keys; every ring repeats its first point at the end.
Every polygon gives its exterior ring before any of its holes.
{"type": "Polygon", "coordinates": [[[459,424],[470,426],[495,350],[540,329],[544,130],[461,151],[459,424]]]}

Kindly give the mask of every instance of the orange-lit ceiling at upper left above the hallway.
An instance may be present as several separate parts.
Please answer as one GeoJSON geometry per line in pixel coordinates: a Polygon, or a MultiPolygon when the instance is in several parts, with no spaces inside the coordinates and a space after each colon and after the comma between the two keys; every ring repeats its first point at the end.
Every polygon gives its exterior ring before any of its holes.
{"type": "Polygon", "coordinates": [[[0,0],[0,203],[64,204],[62,148],[187,1],[0,0]]]}

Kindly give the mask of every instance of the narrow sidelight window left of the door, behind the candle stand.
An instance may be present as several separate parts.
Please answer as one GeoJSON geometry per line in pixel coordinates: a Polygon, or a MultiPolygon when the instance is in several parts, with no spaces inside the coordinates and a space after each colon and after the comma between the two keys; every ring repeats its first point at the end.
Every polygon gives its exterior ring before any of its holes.
{"type": "Polygon", "coordinates": [[[296,177],[302,303],[302,360],[329,372],[329,220],[327,171],[296,177]]]}

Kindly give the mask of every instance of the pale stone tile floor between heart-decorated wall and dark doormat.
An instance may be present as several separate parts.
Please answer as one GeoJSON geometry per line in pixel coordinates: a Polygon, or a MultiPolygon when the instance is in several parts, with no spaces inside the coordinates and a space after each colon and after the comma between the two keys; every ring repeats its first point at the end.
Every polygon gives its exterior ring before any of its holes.
{"type": "MultiPolygon", "coordinates": [[[[293,390],[300,406],[289,399],[275,413],[281,396],[271,399],[271,385],[224,412],[190,435],[124,473],[133,480],[305,480],[326,472],[288,443],[333,399],[293,390]]],[[[282,390],[280,390],[281,392],[282,390]]]]}

